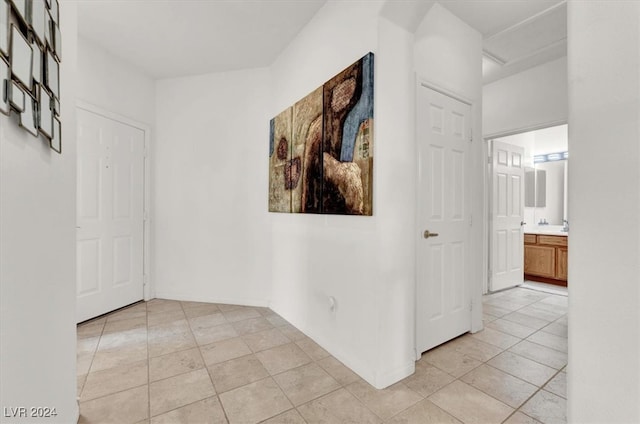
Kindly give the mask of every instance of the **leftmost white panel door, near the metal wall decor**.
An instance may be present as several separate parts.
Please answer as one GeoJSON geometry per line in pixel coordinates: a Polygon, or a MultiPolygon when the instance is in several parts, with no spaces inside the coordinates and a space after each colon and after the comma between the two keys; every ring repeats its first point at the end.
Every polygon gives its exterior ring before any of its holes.
{"type": "Polygon", "coordinates": [[[144,131],[77,109],[77,320],[143,298],[144,131]]]}

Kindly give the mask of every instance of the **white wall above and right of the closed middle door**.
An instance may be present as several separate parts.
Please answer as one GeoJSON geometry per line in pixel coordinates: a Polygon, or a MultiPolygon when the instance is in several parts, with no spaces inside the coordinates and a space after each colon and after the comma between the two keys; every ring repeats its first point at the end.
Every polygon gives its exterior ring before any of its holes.
{"type": "Polygon", "coordinates": [[[484,198],[482,181],[485,164],[482,142],[482,36],[440,4],[435,4],[418,26],[415,34],[415,70],[418,78],[443,88],[472,103],[470,148],[472,330],[482,328],[481,295],[483,278],[484,198]]]}

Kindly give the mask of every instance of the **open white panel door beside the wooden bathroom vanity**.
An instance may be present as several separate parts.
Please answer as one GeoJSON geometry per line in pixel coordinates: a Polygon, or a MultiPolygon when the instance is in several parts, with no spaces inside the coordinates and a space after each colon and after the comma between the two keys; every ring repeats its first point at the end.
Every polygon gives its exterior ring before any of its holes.
{"type": "Polygon", "coordinates": [[[497,291],[524,278],[524,148],[493,140],[491,278],[497,291]]]}

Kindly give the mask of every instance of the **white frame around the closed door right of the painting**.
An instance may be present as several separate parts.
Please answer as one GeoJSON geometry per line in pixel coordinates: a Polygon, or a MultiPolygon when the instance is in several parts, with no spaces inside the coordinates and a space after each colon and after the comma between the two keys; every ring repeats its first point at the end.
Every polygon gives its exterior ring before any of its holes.
{"type": "MultiPolygon", "coordinates": [[[[473,144],[474,142],[480,142],[479,140],[476,141],[474,139],[474,122],[475,122],[475,113],[474,113],[474,107],[475,107],[475,102],[468,99],[467,97],[456,93],[455,91],[452,91],[448,88],[445,88],[437,83],[434,83],[432,81],[430,81],[428,78],[422,77],[420,75],[418,75],[417,73],[414,74],[414,92],[413,92],[413,109],[414,109],[414,123],[413,123],[413,127],[414,127],[414,149],[415,149],[415,155],[416,155],[416,184],[415,184],[415,194],[416,194],[416,203],[414,205],[414,215],[415,215],[415,222],[414,222],[414,231],[415,231],[415,235],[414,235],[414,252],[415,252],[415,257],[414,257],[414,273],[415,273],[415,281],[414,281],[414,286],[413,286],[413,298],[414,298],[414,329],[413,329],[413,350],[415,353],[415,359],[416,361],[419,360],[421,358],[422,352],[418,352],[418,243],[421,241],[421,236],[422,236],[422,226],[420,224],[420,217],[418,215],[418,209],[419,209],[419,201],[417,200],[420,196],[420,185],[418,184],[418,181],[420,181],[420,177],[421,177],[421,164],[422,164],[422,156],[420,154],[420,149],[418,148],[418,131],[417,131],[417,127],[418,127],[418,93],[419,90],[421,88],[428,88],[430,90],[434,90],[444,96],[450,97],[454,100],[457,100],[459,102],[462,102],[466,105],[469,105],[470,107],[470,122],[472,123],[472,127],[471,127],[471,137],[472,137],[472,142],[471,144],[473,144]]],[[[475,162],[475,158],[473,157],[473,149],[470,148],[470,155],[469,155],[469,166],[471,168],[473,168],[474,162],[475,162]]],[[[482,166],[482,165],[480,165],[482,166]]],[[[473,187],[470,187],[471,191],[473,192],[473,187]]],[[[486,197],[484,198],[486,200],[486,197]]],[[[470,208],[471,208],[471,212],[470,215],[473,213],[473,202],[470,202],[470,208]]],[[[484,205],[483,205],[484,208],[484,205]]],[[[486,217],[486,215],[485,215],[486,217]]],[[[478,220],[480,220],[481,222],[486,221],[486,219],[483,219],[483,217],[480,217],[479,219],[476,218],[476,222],[478,222],[478,220]]],[[[476,224],[477,225],[477,224],[476,224]]],[[[469,230],[469,241],[470,243],[473,244],[474,241],[474,236],[473,236],[473,228],[470,228],[469,230]]],[[[483,234],[484,237],[484,234],[483,234]]],[[[487,258],[487,252],[486,250],[486,244],[483,244],[483,253],[482,253],[482,266],[484,266],[484,262],[486,261],[487,258]]],[[[474,259],[473,256],[471,256],[469,258],[469,262],[470,262],[470,270],[474,269],[474,259]]],[[[486,279],[486,275],[484,277],[486,279]]],[[[484,282],[484,280],[483,280],[484,282]]],[[[469,290],[469,301],[471,303],[471,317],[470,317],[470,322],[469,322],[469,332],[471,333],[475,333],[477,331],[482,330],[482,314],[476,314],[476,309],[480,309],[480,311],[482,311],[482,302],[478,302],[478,298],[481,299],[482,297],[482,287],[481,285],[475,286],[473,284],[473,279],[471,277],[467,278],[467,285],[468,285],[468,290],[469,290]],[[478,295],[478,293],[480,293],[478,295]],[[479,318],[477,318],[479,317],[479,318]]]]}

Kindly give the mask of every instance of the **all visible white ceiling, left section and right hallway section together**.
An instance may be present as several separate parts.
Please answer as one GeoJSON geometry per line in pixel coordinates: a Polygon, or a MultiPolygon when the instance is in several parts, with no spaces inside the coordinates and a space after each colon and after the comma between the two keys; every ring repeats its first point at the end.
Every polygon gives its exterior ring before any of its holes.
{"type": "MultiPolygon", "coordinates": [[[[269,66],[326,1],[83,0],[78,30],[153,78],[224,72],[269,66]]],[[[566,55],[566,0],[439,3],[483,35],[485,83],[566,55]]]]}

